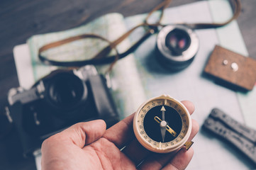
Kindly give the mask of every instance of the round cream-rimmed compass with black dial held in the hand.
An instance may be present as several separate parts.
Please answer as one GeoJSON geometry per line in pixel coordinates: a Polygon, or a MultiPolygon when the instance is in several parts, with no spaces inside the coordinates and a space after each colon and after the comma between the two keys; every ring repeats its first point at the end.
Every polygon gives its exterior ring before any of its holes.
{"type": "Polygon", "coordinates": [[[185,145],[191,133],[191,116],[187,108],[176,99],[162,95],[151,98],[138,108],[133,119],[136,138],[146,149],[167,153],[185,145]]]}

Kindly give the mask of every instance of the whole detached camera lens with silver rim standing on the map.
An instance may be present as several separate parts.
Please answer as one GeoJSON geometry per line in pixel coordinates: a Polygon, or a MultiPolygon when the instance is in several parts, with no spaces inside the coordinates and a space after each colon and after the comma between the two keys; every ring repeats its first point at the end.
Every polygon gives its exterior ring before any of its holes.
{"type": "Polygon", "coordinates": [[[157,60],[171,71],[188,67],[198,50],[199,38],[186,26],[165,26],[157,35],[157,60]]]}

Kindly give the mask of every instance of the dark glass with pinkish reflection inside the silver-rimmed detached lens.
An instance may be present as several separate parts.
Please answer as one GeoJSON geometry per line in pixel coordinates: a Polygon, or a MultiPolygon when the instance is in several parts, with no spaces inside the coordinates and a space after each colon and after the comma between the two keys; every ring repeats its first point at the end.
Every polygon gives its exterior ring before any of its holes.
{"type": "Polygon", "coordinates": [[[165,38],[165,45],[171,50],[172,55],[181,55],[189,48],[191,39],[189,34],[179,28],[169,32],[165,38]]]}

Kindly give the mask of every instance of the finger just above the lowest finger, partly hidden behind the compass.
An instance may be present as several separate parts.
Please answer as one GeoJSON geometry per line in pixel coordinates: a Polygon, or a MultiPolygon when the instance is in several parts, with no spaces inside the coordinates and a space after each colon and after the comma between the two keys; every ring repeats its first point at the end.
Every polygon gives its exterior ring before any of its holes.
{"type": "MultiPolygon", "coordinates": [[[[196,120],[192,120],[192,130],[188,141],[191,141],[198,131],[199,124],[196,122],[196,120]]],[[[140,169],[162,169],[162,167],[165,166],[165,164],[167,164],[176,153],[177,151],[171,152],[169,154],[151,154],[144,160],[143,164],[140,165],[140,169]]]]}

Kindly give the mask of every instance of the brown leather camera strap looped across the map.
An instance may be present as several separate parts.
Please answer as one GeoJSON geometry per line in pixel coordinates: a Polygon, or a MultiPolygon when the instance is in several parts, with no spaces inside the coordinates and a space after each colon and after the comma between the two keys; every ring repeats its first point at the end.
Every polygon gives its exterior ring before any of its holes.
{"type": "MultiPolygon", "coordinates": [[[[121,37],[114,40],[113,42],[107,40],[106,38],[102,37],[101,35],[96,35],[96,34],[91,34],[91,33],[82,34],[82,35],[77,35],[77,36],[74,36],[74,37],[71,37],[71,38],[66,38],[64,40],[58,40],[56,42],[51,42],[47,45],[44,45],[43,47],[40,47],[40,49],[38,50],[38,57],[45,64],[51,64],[51,65],[62,66],[62,67],[63,66],[64,67],[82,67],[86,64],[111,63],[111,65],[110,65],[110,67],[108,68],[108,71],[107,71],[107,72],[111,72],[111,69],[112,69],[113,65],[118,61],[118,59],[126,57],[128,54],[133,52],[145,39],[147,39],[153,33],[156,33],[159,26],[165,26],[165,25],[161,24],[160,22],[162,21],[162,16],[164,15],[165,8],[167,8],[169,6],[171,1],[172,0],[162,1],[162,3],[157,5],[155,8],[152,9],[152,11],[150,11],[150,13],[148,13],[148,16],[145,19],[144,23],[140,23],[138,26],[135,26],[134,28],[131,28],[130,30],[128,30],[128,32],[124,33],[123,35],[121,35],[121,37]],[[161,11],[159,20],[155,23],[149,23],[148,20],[149,20],[150,16],[152,15],[152,13],[154,13],[157,10],[161,11]],[[135,42],[128,50],[126,50],[126,52],[123,52],[122,54],[118,54],[118,50],[116,49],[116,46],[120,42],[122,42],[123,40],[128,38],[128,36],[131,33],[133,33],[134,30],[136,30],[137,28],[140,28],[140,27],[147,28],[147,31],[142,36],[142,38],[140,38],[137,42],[135,42]],[[49,50],[50,48],[58,47],[60,45],[64,45],[66,43],[73,42],[75,40],[81,40],[81,39],[84,39],[84,38],[101,39],[101,40],[104,40],[104,41],[108,42],[108,45],[106,47],[104,47],[103,50],[101,50],[98,54],[96,54],[91,59],[82,60],[82,61],[72,61],[72,62],[63,61],[63,62],[59,62],[59,61],[55,61],[55,60],[50,60],[50,59],[48,59],[47,57],[45,57],[41,54],[42,52],[44,52],[45,50],[49,50]],[[109,54],[109,52],[111,52],[111,50],[115,50],[116,55],[108,56],[108,54],[109,54]]],[[[240,11],[241,11],[240,0],[231,0],[231,2],[233,4],[233,11],[234,11],[233,12],[233,17],[230,18],[226,22],[223,22],[223,23],[194,23],[194,24],[178,23],[178,24],[188,26],[189,28],[192,28],[192,29],[219,28],[221,26],[225,26],[226,24],[230,23],[234,19],[238,18],[239,14],[240,14],[240,11]]]]}

